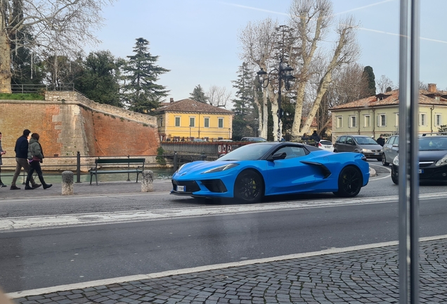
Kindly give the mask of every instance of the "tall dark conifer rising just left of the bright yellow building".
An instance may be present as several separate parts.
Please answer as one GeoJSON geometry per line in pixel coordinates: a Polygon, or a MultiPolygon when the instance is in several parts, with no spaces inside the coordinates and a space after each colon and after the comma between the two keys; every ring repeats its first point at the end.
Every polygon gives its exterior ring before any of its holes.
{"type": "Polygon", "coordinates": [[[169,90],[156,84],[159,76],[169,70],[161,68],[155,63],[159,56],[152,56],[148,51],[148,40],[136,39],[134,56],[127,56],[129,61],[124,65],[123,100],[129,110],[138,113],[150,113],[160,106],[162,97],[167,96],[169,90]]]}

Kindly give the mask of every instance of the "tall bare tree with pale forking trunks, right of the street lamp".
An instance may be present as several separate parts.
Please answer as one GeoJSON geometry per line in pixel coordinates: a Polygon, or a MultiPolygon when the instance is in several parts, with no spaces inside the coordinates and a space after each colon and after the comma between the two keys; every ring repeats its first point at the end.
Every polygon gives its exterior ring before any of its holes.
{"type": "MultiPolygon", "coordinates": [[[[298,137],[308,133],[315,118],[320,103],[332,82],[332,73],[342,65],[356,61],[359,53],[356,43],[356,23],[354,18],[348,17],[340,20],[335,30],[337,40],[332,51],[316,52],[318,44],[329,33],[332,20],[332,4],[329,0],[294,0],[290,8],[291,26],[297,31],[301,52],[299,56],[291,57],[291,65],[297,70],[298,81],[295,84],[297,98],[295,103],[294,123],[292,136],[298,137]],[[328,58],[325,61],[324,58],[328,58]],[[318,61],[323,61],[324,69],[318,71],[318,87],[313,99],[309,115],[303,124],[302,113],[304,106],[304,93],[306,87],[316,70],[313,70],[318,61]]],[[[321,63],[320,63],[321,65],[321,63]]]]}

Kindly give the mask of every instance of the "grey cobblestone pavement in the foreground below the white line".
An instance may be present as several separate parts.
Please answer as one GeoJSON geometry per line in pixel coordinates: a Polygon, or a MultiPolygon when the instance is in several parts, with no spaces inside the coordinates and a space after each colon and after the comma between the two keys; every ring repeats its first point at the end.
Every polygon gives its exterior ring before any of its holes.
{"type": "MultiPolygon", "coordinates": [[[[447,239],[420,243],[420,303],[447,303],[447,239]]],[[[15,303],[399,303],[397,246],[16,298],[15,303]]]]}

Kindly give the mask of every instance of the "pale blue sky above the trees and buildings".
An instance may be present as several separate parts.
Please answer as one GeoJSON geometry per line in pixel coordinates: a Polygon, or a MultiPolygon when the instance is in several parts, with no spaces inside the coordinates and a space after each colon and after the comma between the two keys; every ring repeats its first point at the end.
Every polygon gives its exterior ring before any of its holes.
{"type": "MultiPolygon", "coordinates": [[[[421,0],[420,80],[447,90],[446,0],[421,0]]],[[[249,22],[271,18],[285,24],[292,0],[115,0],[103,8],[105,22],[96,32],[101,44],[86,51],[109,50],[131,56],[135,39],[150,42],[157,65],[170,72],[157,84],[169,90],[166,101],[190,97],[200,84],[235,92],[240,59],[238,36],[249,22]]],[[[385,75],[399,84],[399,0],[332,0],[335,20],[353,15],[360,24],[358,63],[370,65],[376,80],[385,75]]],[[[330,42],[330,37],[328,37],[330,42]]],[[[231,108],[231,106],[227,106],[231,108]]]]}

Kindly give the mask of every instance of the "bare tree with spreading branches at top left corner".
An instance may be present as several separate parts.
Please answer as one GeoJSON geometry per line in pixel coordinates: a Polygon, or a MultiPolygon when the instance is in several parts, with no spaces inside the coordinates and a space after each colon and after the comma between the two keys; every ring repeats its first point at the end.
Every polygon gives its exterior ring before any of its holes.
{"type": "Polygon", "coordinates": [[[71,57],[97,44],[93,30],[101,27],[103,6],[113,0],[0,0],[0,92],[11,92],[11,42],[39,55],[71,57]],[[30,35],[18,35],[27,31],[30,35]],[[20,37],[18,40],[17,37],[20,37]]]}

